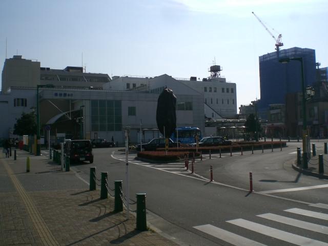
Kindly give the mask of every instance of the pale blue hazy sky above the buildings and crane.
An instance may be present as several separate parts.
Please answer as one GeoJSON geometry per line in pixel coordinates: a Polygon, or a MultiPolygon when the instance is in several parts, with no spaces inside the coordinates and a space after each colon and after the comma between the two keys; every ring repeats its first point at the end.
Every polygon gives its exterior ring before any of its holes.
{"type": "Polygon", "coordinates": [[[328,66],[327,0],[0,0],[0,63],[18,54],[52,69],[200,79],[215,63],[239,108],[260,98],[258,57],[275,51],[252,11],[280,49],[315,49],[328,66]]]}

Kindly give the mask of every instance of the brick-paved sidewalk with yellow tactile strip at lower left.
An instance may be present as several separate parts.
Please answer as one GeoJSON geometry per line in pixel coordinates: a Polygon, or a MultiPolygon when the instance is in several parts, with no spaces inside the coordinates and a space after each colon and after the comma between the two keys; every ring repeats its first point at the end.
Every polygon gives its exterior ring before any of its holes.
{"type": "Polygon", "coordinates": [[[0,245],[177,245],[156,232],[137,231],[136,218],[115,213],[114,199],[43,156],[0,157],[0,245]],[[69,187],[69,188],[68,188],[69,187]]]}

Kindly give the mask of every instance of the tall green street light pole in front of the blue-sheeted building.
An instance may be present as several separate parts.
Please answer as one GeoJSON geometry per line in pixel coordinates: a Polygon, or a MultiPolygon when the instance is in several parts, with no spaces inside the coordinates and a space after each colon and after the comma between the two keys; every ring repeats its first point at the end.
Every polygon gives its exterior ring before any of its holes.
{"type": "MultiPolygon", "coordinates": [[[[301,88],[302,88],[302,115],[303,115],[303,168],[308,168],[308,150],[310,146],[310,141],[306,139],[308,136],[308,126],[306,120],[306,97],[305,97],[305,84],[304,84],[304,70],[303,70],[303,58],[302,57],[292,57],[292,58],[281,58],[279,63],[289,63],[291,60],[298,60],[301,63],[301,88]]],[[[310,137],[309,137],[310,139],[310,137]]]]}

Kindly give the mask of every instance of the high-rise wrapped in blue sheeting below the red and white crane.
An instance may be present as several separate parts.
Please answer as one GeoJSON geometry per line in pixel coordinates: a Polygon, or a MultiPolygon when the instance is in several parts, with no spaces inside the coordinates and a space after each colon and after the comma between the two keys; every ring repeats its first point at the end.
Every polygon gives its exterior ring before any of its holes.
{"type": "Polygon", "coordinates": [[[285,104],[288,93],[302,91],[301,63],[291,60],[289,63],[279,63],[280,58],[303,58],[304,83],[313,85],[316,80],[315,50],[307,48],[290,48],[268,53],[259,57],[260,92],[259,111],[265,111],[270,104],[285,104]]]}

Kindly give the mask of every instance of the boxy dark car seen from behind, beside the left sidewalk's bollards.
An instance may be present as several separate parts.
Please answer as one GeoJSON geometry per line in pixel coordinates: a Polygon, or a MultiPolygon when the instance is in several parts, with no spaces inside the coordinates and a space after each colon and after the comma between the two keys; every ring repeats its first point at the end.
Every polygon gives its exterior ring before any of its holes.
{"type": "Polygon", "coordinates": [[[65,143],[65,154],[70,161],[93,162],[93,153],[90,140],[70,140],[65,143]]]}

